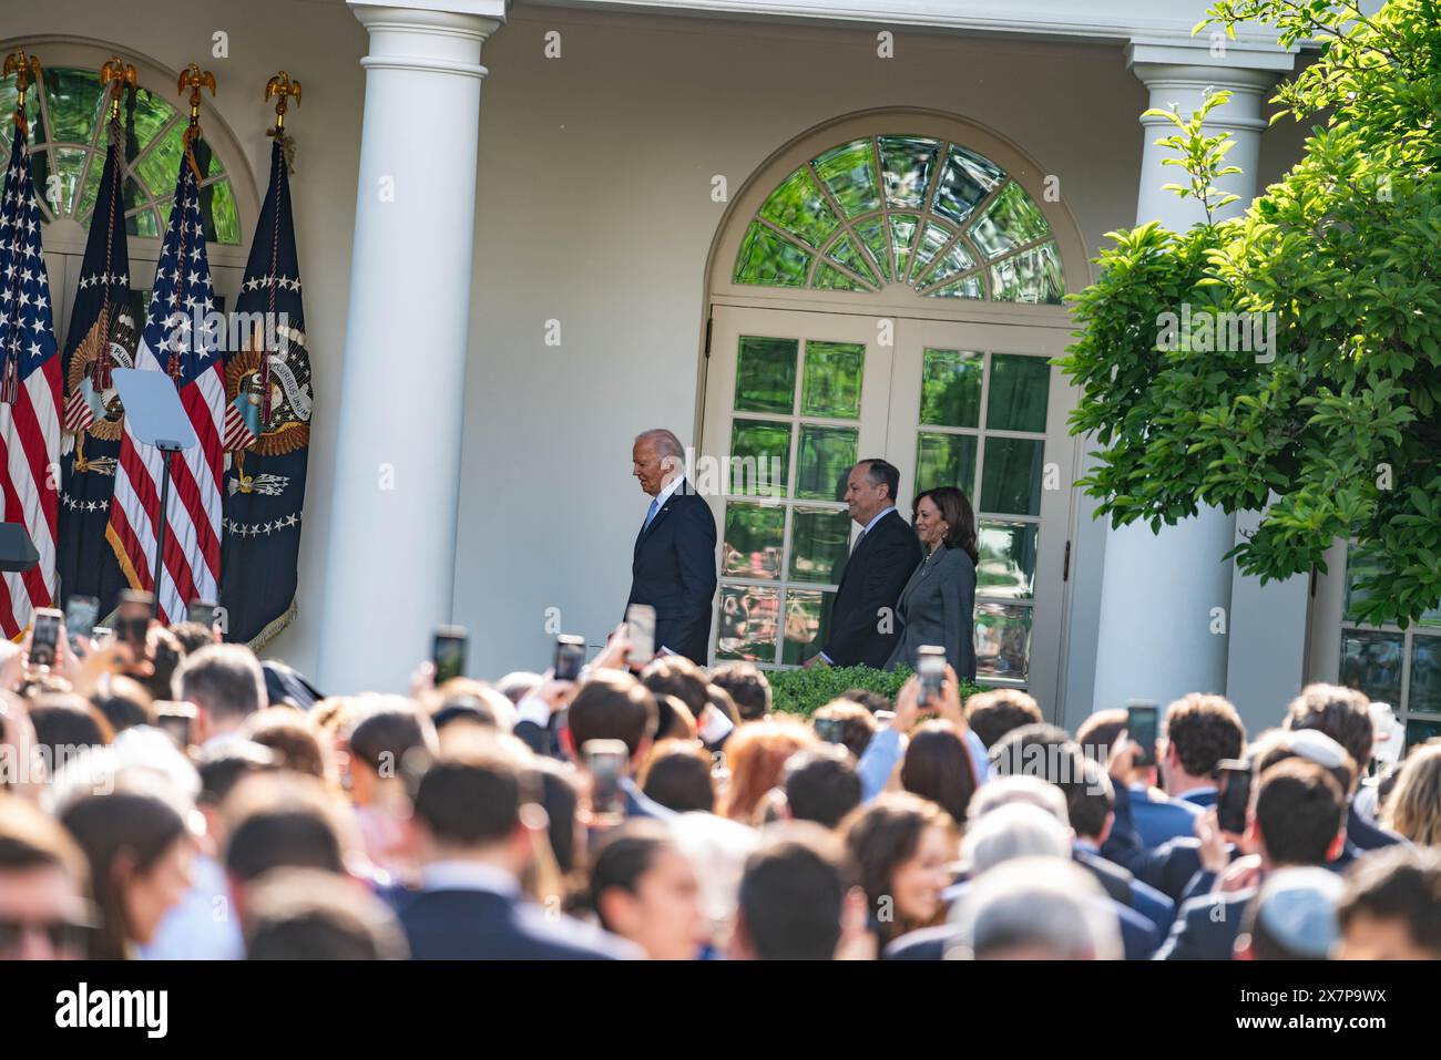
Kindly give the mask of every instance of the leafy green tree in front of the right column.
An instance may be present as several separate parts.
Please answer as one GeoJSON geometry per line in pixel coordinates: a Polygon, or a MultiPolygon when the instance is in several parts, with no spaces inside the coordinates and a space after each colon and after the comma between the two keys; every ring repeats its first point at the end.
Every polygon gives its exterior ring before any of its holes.
{"type": "Polygon", "coordinates": [[[1264,510],[1228,553],[1262,583],[1324,572],[1331,542],[1352,540],[1375,570],[1356,618],[1405,628],[1441,599],[1437,3],[1219,0],[1196,29],[1241,22],[1321,42],[1274,96],[1275,118],[1317,124],[1294,169],[1216,222],[1215,181],[1235,170],[1202,118],[1221,99],[1166,115],[1177,131],[1160,143],[1190,177],[1170,187],[1206,220],[1110,233],[1099,281],[1074,298],[1071,426],[1102,446],[1081,485],[1112,524],[1157,531],[1203,504],[1264,510]],[[1274,346],[1222,321],[1274,325],[1274,346]]]}

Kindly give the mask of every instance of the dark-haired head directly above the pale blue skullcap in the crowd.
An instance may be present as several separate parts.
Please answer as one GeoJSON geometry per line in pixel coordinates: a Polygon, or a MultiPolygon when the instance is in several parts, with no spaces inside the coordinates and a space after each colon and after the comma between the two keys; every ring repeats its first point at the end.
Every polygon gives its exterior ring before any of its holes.
{"type": "Polygon", "coordinates": [[[1314,762],[1287,759],[1259,776],[1246,841],[1267,867],[1320,866],[1346,843],[1346,796],[1314,762]]]}

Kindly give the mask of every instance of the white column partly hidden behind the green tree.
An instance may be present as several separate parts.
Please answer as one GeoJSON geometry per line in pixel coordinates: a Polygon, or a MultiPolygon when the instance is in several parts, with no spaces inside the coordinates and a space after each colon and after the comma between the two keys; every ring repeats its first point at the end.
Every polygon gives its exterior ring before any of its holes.
{"type": "MultiPolygon", "coordinates": [[[[1226,42],[1225,53],[1212,55],[1206,40],[1138,40],[1127,58],[1150,91],[1148,107],[1189,115],[1209,91],[1232,94],[1210,112],[1206,130],[1231,132],[1236,144],[1226,161],[1242,170],[1221,183],[1241,200],[1218,219],[1245,209],[1258,190],[1261,105],[1293,56],[1233,42],[1226,42]]],[[[1167,151],[1153,143],[1174,127],[1161,118],[1141,118],[1141,127],[1146,148],[1137,223],[1160,220],[1185,230],[1203,220],[1205,210],[1193,199],[1163,190],[1186,183],[1186,174],[1163,166],[1167,151]]],[[[1107,530],[1094,710],[1120,707],[1128,699],[1166,704],[1187,691],[1226,691],[1228,635],[1212,629],[1219,628],[1215,608],[1223,609],[1225,628],[1231,628],[1232,565],[1222,556],[1233,543],[1235,518],[1216,508],[1163,526],[1159,534],[1146,521],[1107,530]]]]}

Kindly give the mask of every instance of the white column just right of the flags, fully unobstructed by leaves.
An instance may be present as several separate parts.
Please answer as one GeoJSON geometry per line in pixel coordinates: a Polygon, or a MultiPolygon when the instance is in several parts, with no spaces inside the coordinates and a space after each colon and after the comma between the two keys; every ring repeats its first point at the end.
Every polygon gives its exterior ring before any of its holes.
{"type": "Polygon", "coordinates": [[[402,691],[451,619],[484,40],[504,0],[347,0],[370,35],[320,686],[402,691]]]}

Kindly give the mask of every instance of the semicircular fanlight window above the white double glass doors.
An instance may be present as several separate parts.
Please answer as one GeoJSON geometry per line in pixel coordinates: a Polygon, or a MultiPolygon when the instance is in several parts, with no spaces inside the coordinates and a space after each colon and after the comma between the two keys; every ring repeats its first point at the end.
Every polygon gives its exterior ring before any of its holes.
{"type": "Polygon", "coordinates": [[[989,158],[914,135],[853,140],[761,205],[736,284],[1058,304],[1061,251],[1036,202],[989,158]]]}

